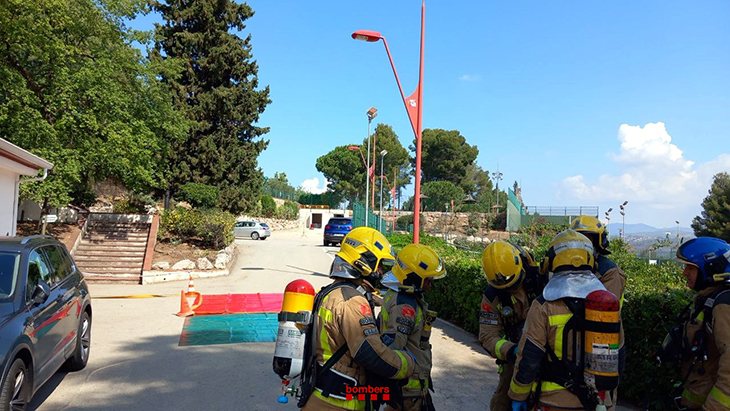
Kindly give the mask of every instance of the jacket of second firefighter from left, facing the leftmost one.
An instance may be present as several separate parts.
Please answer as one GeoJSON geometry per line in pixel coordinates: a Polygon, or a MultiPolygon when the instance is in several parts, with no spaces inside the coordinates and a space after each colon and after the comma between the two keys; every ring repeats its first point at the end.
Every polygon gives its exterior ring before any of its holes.
{"type": "Polygon", "coordinates": [[[407,350],[416,358],[416,370],[403,387],[404,397],[420,397],[428,389],[432,364],[429,339],[435,317],[427,316],[427,311],[428,304],[415,294],[388,290],[383,299],[382,341],[390,348],[407,350]]]}

